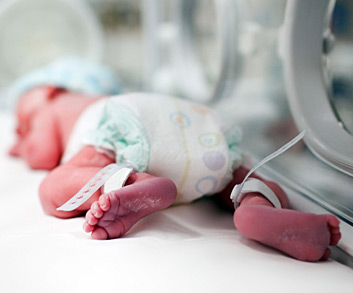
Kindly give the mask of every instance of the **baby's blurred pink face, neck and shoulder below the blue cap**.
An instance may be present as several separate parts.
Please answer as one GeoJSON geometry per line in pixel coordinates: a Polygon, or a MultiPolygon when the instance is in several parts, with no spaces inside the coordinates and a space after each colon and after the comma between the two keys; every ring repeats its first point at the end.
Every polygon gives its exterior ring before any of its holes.
{"type": "Polygon", "coordinates": [[[60,163],[78,116],[98,98],[51,86],[29,90],[17,107],[17,142],[10,155],[24,159],[32,169],[52,170],[60,163]]]}

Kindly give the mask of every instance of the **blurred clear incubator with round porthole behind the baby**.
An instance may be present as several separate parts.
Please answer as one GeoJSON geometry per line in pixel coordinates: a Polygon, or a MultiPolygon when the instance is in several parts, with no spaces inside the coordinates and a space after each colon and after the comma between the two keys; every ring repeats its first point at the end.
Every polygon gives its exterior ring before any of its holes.
{"type": "Polygon", "coordinates": [[[349,0],[3,0],[0,87],[79,55],[112,66],[125,91],[235,117],[254,161],[305,129],[305,144],[259,173],[294,208],[338,216],[353,255],[352,13],[349,0]]]}

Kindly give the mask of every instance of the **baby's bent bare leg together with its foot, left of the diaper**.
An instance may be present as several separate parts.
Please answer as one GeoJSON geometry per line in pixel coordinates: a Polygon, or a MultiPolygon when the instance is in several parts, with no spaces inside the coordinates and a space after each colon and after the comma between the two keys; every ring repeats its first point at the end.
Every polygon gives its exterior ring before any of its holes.
{"type": "Polygon", "coordinates": [[[84,147],[67,163],[50,172],[41,183],[39,195],[44,210],[60,218],[80,216],[88,210],[84,230],[92,232],[94,239],[108,239],[124,235],[139,219],[173,204],[177,191],[170,179],[134,173],[118,191],[103,195],[97,191],[71,212],[56,210],[110,163],[113,161],[94,147],[84,147]],[[99,225],[96,216],[102,218],[99,225]]]}

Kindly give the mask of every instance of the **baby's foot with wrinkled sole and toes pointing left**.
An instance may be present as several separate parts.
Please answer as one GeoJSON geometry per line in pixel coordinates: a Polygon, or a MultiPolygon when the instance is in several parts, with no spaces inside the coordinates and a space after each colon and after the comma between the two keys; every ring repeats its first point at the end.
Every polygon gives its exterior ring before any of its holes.
{"type": "Polygon", "coordinates": [[[153,177],[100,196],[86,214],[85,232],[93,239],[123,236],[141,218],[170,206],[176,197],[174,183],[153,177]]]}

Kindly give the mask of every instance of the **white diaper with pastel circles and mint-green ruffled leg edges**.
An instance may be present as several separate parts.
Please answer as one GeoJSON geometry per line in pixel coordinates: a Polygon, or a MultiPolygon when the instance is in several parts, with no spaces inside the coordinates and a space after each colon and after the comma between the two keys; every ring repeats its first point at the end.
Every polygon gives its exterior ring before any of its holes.
{"type": "MultiPolygon", "coordinates": [[[[170,178],[178,189],[177,203],[221,191],[241,164],[239,129],[226,129],[210,109],[199,104],[164,95],[127,94],[90,108],[75,133],[87,132],[85,120],[95,124],[91,115],[102,114],[84,143],[114,155],[117,164],[128,161],[138,172],[170,178]]],[[[72,145],[76,150],[77,144],[82,146],[78,141],[70,142],[71,154],[75,153],[72,145]]]]}

